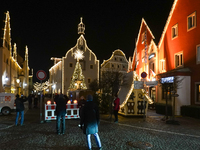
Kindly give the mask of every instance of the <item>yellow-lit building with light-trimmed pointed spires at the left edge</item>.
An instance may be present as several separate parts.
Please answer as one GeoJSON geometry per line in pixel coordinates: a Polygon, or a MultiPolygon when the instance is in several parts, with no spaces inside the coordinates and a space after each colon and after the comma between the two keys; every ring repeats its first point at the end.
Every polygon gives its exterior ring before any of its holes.
{"type": "Polygon", "coordinates": [[[25,60],[17,53],[17,46],[11,45],[10,15],[6,12],[5,25],[1,33],[0,47],[0,92],[29,94],[28,48],[25,49],[25,60]],[[22,67],[23,66],[23,67],[22,67]]]}

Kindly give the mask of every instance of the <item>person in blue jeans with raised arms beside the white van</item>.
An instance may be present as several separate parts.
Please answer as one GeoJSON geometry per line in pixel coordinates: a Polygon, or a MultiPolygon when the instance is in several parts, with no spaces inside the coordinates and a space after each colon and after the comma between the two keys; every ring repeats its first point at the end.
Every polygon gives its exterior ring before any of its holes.
{"type": "Polygon", "coordinates": [[[15,126],[18,124],[19,115],[21,115],[21,121],[20,125],[24,125],[24,102],[27,101],[27,99],[24,99],[23,97],[19,98],[19,95],[16,95],[15,104],[16,104],[16,119],[15,119],[15,126]]]}

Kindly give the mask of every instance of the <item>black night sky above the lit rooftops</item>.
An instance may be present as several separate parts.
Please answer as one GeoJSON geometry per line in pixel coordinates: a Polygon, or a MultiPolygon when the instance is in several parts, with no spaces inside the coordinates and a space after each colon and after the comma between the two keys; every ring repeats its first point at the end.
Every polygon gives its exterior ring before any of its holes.
{"type": "MultiPolygon", "coordinates": [[[[2,0],[0,21],[10,12],[11,38],[22,56],[29,49],[34,76],[53,65],[51,57],[63,57],[75,46],[80,17],[88,47],[100,64],[121,49],[133,55],[141,20],[145,19],[158,43],[174,0],[2,0]]],[[[1,23],[2,24],[2,23],[1,23]]],[[[1,27],[3,28],[3,27],[1,27]]],[[[34,81],[36,78],[34,78],[34,81]]]]}

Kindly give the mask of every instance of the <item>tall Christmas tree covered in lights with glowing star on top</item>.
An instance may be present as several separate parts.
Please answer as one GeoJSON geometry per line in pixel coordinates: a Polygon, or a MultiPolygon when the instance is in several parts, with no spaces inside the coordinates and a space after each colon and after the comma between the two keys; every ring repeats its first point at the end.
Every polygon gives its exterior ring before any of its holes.
{"type": "Polygon", "coordinates": [[[85,77],[82,73],[82,68],[79,63],[79,60],[84,58],[83,51],[77,50],[74,53],[74,58],[77,59],[77,62],[74,69],[74,73],[72,75],[72,80],[69,86],[69,90],[74,91],[74,90],[80,90],[80,89],[87,89],[86,84],[85,84],[85,77]]]}

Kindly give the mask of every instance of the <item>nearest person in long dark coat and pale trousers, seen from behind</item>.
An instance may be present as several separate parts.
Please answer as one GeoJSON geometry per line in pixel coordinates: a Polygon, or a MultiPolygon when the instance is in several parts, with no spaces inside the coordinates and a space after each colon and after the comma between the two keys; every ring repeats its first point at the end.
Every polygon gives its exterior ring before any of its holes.
{"type": "Polygon", "coordinates": [[[101,149],[101,141],[98,135],[99,125],[99,109],[93,102],[92,95],[87,96],[87,102],[81,111],[81,128],[83,127],[83,133],[86,134],[87,145],[89,149],[92,149],[91,134],[94,135],[97,146],[101,149]]]}

